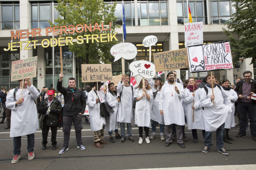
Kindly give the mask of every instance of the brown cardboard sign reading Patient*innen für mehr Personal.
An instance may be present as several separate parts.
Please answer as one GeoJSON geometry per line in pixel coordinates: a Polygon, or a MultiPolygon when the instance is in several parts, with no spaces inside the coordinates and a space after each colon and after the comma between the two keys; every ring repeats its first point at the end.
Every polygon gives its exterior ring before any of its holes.
{"type": "Polygon", "coordinates": [[[154,63],[157,72],[188,68],[187,48],[155,53],[154,63]]]}

